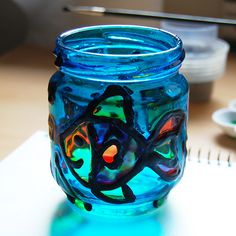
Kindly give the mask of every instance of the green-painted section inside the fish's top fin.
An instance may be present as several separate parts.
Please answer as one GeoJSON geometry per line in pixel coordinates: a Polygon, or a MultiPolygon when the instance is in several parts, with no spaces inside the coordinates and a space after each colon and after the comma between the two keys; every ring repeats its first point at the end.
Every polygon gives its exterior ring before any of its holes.
{"type": "Polygon", "coordinates": [[[122,96],[114,96],[105,99],[102,101],[95,109],[95,116],[104,116],[114,119],[122,120],[126,122],[126,117],[123,108],[123,97],[122,96]]]}

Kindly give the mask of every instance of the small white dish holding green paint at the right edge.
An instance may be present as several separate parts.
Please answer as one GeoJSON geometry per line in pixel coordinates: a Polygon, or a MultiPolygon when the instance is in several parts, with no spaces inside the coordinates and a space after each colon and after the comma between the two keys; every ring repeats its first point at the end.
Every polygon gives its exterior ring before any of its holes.
{"type": "Polygon", "coordinates": [[[215,111],[212,119],[227,135],[236,138],[236,111],[223,108],[215,111]]]}

